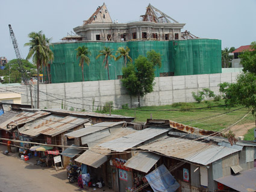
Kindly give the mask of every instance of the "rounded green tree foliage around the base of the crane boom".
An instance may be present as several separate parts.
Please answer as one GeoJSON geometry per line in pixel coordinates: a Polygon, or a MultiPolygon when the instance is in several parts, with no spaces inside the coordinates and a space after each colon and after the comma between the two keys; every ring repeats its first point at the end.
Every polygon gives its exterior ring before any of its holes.
{"type": "MultiPolygon", "coordinates": [[[[36,66],[34,66],[30,61],[28,60],[22,60],[22,66],[23,66],[23,76],[26,79],[30,79],[34,73],[36,73],[36,66]]],[[[18,64],[18,60],[10,60],[5,65],[5,69],[2,70],[2,74],[4,76],[4,82],[3,83],[9,83],[9,72],[10,72],[10,83],[13,82],[21,82],[22,81],[22,74],[20,73],[20,67],[18,64]]]]}

